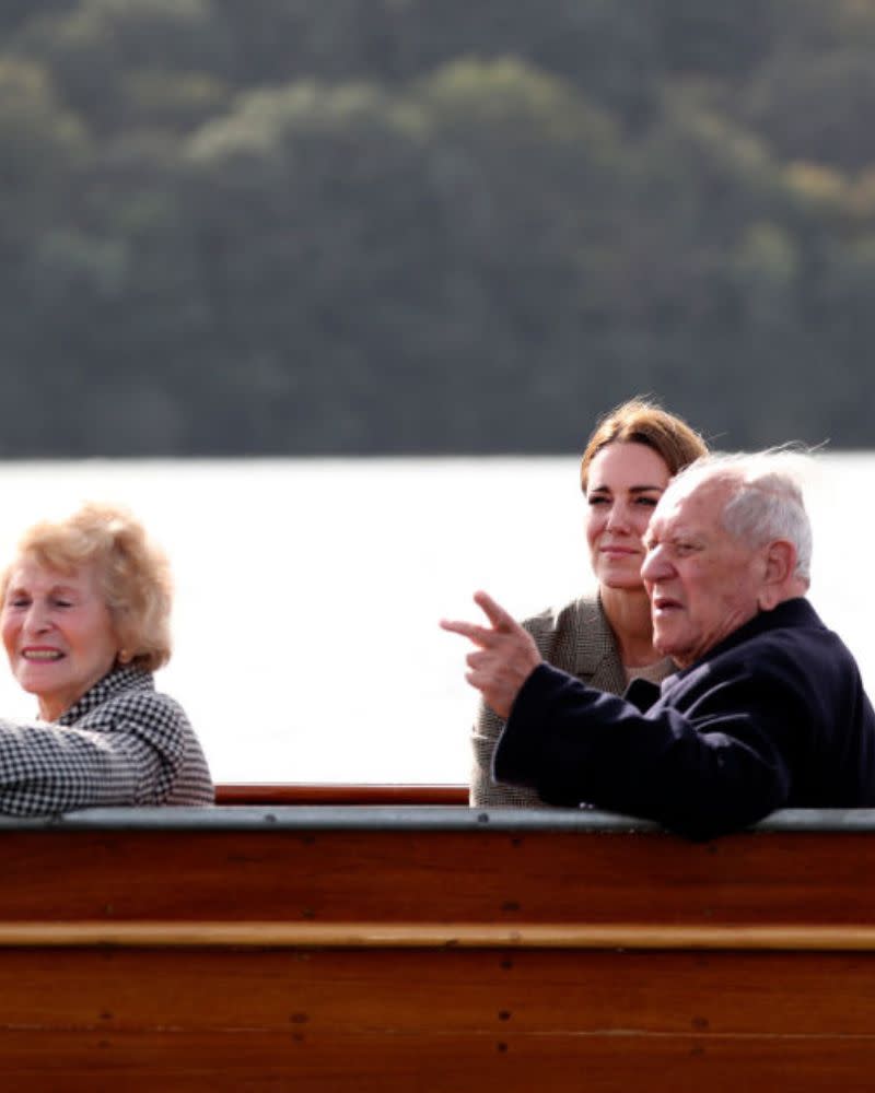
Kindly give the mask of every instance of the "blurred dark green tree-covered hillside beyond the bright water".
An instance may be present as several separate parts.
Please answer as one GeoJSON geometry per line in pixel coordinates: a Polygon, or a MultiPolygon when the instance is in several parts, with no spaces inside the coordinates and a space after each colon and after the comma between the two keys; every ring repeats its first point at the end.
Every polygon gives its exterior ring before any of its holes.
{"type": "Polygon", "coordinates": [[[4,0],[0,455],[873,445],[875,0],[4,0]]]}

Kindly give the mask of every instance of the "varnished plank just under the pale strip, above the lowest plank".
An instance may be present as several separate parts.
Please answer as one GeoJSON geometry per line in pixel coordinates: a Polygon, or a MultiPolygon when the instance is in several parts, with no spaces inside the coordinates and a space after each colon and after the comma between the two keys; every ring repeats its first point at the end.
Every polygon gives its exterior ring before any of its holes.
{"type": "Polygon", "coordinates": [[[870,1038],[875,955],[9,950],[0,1035],[16,1025],[870,1038]]]}

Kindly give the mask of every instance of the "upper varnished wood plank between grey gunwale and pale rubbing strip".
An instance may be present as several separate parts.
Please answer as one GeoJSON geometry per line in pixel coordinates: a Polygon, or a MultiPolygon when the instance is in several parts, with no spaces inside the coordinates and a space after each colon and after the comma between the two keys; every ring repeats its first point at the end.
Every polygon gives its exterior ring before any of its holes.
{"type": "Polygon", "coordinates": [[[0,921],[875,925],[875,838],[490,831],[2,836],[0,921]]]}

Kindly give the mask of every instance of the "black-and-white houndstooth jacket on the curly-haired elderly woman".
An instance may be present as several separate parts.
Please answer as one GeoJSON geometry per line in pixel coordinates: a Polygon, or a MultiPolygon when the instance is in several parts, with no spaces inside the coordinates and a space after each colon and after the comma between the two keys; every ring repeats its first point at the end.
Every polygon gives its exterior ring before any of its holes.
{"type": "Polygon", "coordinates": [[[115,668],[57,721],[0,720],[2,813],[212,801],[207,761],[182,706],[139,668],[115,668]]]}

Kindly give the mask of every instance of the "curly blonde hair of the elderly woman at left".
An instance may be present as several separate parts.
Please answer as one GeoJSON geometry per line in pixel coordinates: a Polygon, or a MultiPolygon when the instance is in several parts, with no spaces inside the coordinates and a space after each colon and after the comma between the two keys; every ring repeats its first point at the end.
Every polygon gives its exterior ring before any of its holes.
{"type": "Polygon", "coordinates": [[[71,516],[28,528],[14,561],[0,576],[0,602],[5,600],[12,571],[24,557],[60,573],[93,565],[125,661],[155,671],[170,660],[170,563],[126,509],[88,502],[71,516]]]}

